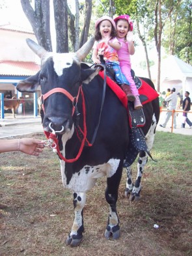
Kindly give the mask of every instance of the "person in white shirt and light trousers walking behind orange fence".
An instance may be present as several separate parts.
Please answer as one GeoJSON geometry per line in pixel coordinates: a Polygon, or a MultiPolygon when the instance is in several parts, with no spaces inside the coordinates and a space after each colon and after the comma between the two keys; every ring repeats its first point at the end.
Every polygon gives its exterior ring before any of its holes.
{"type": "MultiPolygon", "coordinates": [[[[177,94],[175,92],[175,88],[173,87],[171,90],[171,94],[169,94],[169,96],[167,96],[165,98],[166,102],[169,102],[169,106],[167,107],[167,109],[169,111],[167,111],[166,115],[165,115],[165,121],[163,122],[163,124],[159,124],[159,126],[165,128],[167,125],[167,122],[169,121],[171,115],[172,115],[172,111],[171,110],[175,110],[176,109],[176,104],[177,104],[177,94]]],[[[174,118],[173,118],[173,128],[176,129],[176,115],[174,113],[174,118]]]]}

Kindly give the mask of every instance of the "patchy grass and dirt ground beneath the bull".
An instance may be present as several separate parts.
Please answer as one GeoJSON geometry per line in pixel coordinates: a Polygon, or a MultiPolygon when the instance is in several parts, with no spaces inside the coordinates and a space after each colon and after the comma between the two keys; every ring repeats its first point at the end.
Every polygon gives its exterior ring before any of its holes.
{"type": "MultiPolygon", "coordinates": [[[[43,134],[33,134],[44,138],[43,134]]],[[[72,192],[62,186],[60,165],[51,149],[34,158],[20,152],[0,155],[0,255],[160,255],[192,254],[191,137],[157,132],[142,178],[141,200],[124,198],[119,188],[119,240],[105,240],[109,207],[105,178],[87,193],[85,233],[78,248],[64,241],[74,220],[72,192]],[[154,229],[154,224],[159,228],[154,229]]],[[[133,165],[136,168],[136,163],[133,165]]],[[[137,175],[136,169],[133,177],[137,175]]]]}

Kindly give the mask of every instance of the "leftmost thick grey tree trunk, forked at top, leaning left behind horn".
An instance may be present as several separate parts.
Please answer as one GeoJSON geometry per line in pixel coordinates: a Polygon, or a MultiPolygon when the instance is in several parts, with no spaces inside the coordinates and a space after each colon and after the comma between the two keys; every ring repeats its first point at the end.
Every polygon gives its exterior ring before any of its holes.
{"type": "Polygon", "coordinates": [[[31,23],[38,44],[47,51],[52,51],[49,0],[35,0],[34,10],[29,0],[21,0],[21,6],[31,23]]]}

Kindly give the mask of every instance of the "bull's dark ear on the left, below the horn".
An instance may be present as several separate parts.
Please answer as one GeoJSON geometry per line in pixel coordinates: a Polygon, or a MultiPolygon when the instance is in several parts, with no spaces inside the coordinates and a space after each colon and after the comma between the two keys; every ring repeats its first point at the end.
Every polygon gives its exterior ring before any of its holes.
{"type": "Polygon", "coordinates": [[[35,92],[39,83],[38,83],[38,76],[39,73],[36,73],[36,75],[34,76],[30,76],[29,78],[20,81],[17,85],[16,85],[16,89],[19,92],[35,92]]]}

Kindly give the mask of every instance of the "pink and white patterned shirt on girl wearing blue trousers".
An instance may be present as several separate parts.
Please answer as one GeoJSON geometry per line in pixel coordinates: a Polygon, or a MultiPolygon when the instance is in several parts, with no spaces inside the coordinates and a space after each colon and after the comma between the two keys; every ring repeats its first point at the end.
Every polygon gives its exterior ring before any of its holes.
{"type": "MultiPolygon", "coordinates": [[[[94,42],[93,49],[98,50],[98,54],[103,54],[105,60],[108,61],[118,61],[117,50],[113,49],[113,47],[109,46],[109,44],[105,44],[105,42],[96,41],[94,42]]],[[[115,37],[109,42],[118,42],[118,39],[115,37]]]]}

